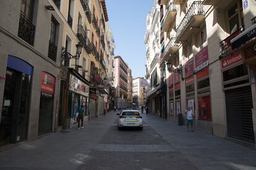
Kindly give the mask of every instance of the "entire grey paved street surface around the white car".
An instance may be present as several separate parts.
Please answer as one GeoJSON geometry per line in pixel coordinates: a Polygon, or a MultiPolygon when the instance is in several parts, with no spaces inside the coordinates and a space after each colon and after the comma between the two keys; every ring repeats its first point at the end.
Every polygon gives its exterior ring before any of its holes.
{"type": "Polygon", "coordinates": [[[111,112],[0,152],[0,169],[256,169],[256,150],[143,114],[143,131],[117,130],[111,112]]]}

